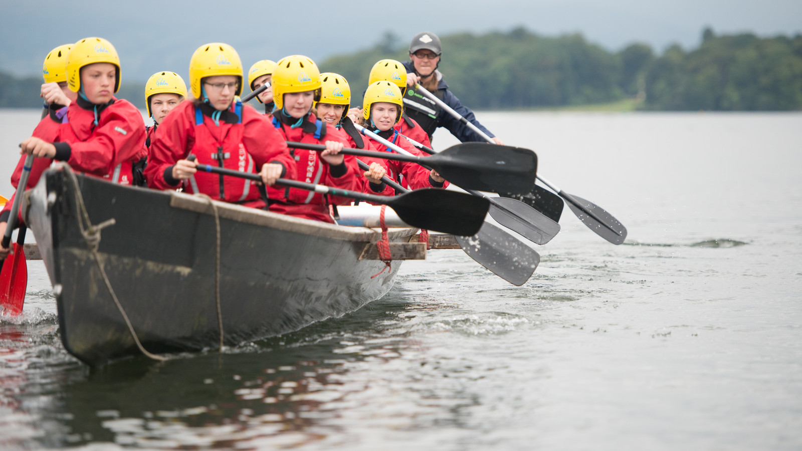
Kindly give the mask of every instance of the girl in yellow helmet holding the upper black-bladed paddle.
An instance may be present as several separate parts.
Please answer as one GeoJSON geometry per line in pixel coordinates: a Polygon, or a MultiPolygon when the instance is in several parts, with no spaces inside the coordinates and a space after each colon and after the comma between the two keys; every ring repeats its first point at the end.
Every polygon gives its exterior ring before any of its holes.
{"type": "MultiPolygon", "coordinates": [[[[347,140],[334,125],[318,119],[312,110],[314,100],[320,100],[320,71],[303,55],[291,55],[276,63],[273,71],[273,126],[286,140],[310,144],[325,144],[323,152],[294,148],[297,180],[321,183],[341,189],[358,191],[358,167],[353,156],[340,152],[347,140]]],[[[334,222],[329,205],[343,205],[345,197],[324,196],[301,189],[268,189],[271,211],[297,217],[334,222]]]]}

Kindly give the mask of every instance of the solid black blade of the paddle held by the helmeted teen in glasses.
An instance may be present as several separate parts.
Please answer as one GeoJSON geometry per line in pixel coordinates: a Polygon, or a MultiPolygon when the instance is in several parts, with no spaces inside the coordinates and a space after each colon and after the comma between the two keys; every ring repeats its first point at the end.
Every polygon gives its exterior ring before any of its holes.
{"type": "Polygon", "coordinates": [[[387,205],[413,227],[471,236],[482,227],[490,202],[446,189],[416,189],[387,197],[387,205]]]}

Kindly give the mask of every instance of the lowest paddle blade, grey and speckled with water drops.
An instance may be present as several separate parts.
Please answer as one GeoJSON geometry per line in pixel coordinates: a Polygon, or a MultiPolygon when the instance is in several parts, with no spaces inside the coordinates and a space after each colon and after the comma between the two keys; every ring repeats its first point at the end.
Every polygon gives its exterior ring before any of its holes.
{"type": "Polygon", "coordinates": [[[465,254],[516,286],[529,280],[541,262],[541,256],[535,250],[488,222],[476,235],[456,237],[456,241],[465,254]]]}

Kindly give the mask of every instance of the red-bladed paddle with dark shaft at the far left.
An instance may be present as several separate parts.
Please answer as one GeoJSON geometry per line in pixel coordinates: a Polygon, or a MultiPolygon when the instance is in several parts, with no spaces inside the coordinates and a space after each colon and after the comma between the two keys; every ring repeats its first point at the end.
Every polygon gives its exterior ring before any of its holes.
{"type": "MultiPolygon", "coordinates": [[[[28,155],[22,165],[22,174],[17,184],[17,193],[14,195],[14,203],[11,204],[11,214],[6,224],[6,233],[2,237],[2,246],[8,247],[11,242],[11,232],[17,226],[19,205],[22,204],[22,193],[28,185],[30,168],[34,164],[34,156],[28,155]]],[[[25,261],[25,228],[22,227],[17,235],[17,242],[11,250],[11,258],[2,261],[0,270],[0,306],[10,311],[11,315],[18,315],[22,312],[22,304],[25,303],[25,290],[28,286],[28,265],[25,261]]]]}

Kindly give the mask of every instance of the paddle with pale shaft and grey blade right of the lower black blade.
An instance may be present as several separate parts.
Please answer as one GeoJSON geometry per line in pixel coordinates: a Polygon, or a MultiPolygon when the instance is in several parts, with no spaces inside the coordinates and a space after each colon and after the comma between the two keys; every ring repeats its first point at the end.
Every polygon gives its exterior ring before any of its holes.
{"type": "MultiPolygon", "coordinates": [[[[381,136],[376,135],[364,127],[362,130],[360,130],[360,132],[363,132],[365,136],[369,136],[371,139],[386,145],[388,148],[395,150],[395,152],[408,153],[403,148],[392,144],[390,141],[383,139],[381,136]]],[[[431,152],[433,154],[435,153],[433,150],[431,150],[431,148],[427,148],[423,144],[415,142],[409,138],[406,139],[416,147],[423,148],[424,152],[431,152]]],[[[429,156],[428,158],[431,157],[432,156],[429,156]]],[[[455,185],[458,184],[455,183],[455,185]]],[[[557,224],[556,221],[552,221],[549,219],[549,217],[545,217],[542,213],[531,208],[529,205],[526,205],[524,202],[516,201],[515,199],[509,199],[507,197],[488,197],[482,193],[478,193],[470,189],[467,191],[475,197],[484,197],[487,199],[490,202],[489,211],[490,216],[492,216],[493,219],[498,221],[499,224],[504,225],[504,227],[508,227],[509,229],[516,231],[518,234],[523,235],[531,242],[536,244],[545,244],[551,241],[551,239],[557,235],[557,232],[560,231],[560,225],[557,224]]]]}

